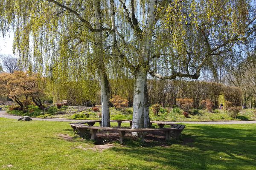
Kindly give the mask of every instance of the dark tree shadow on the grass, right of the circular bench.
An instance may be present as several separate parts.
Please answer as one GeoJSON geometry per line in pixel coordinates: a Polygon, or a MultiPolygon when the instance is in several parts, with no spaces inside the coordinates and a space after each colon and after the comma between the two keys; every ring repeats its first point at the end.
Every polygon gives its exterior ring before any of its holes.
{"type": "Polygon", "coordinates": [[[195,140],[192,147],[177,143],[167,147],[151,147],[150,144],[144,147],[128,140],[125,142],[127,147],[113,147],[111,150],[116,155],[128,155],[134,159],[127,163],[128,169],[253,169],[256,161],[254,129],[193,125],[183,133],[183,139],[195,140]]]}

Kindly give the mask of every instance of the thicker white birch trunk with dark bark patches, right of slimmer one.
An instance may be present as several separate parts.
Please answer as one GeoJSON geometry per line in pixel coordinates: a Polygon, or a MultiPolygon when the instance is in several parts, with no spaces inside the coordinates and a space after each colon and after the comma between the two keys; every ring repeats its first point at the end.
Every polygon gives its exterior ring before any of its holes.
{"type": "MultiPolygon", "coordinates": [[[[142,59],[139,63],[139,68],[136,72],[136,81],[134,87],[134,113],[132,128],[144,128],[150,125],[149,122],[149,105],[148,105],[148,91],[146,88],[147,79],[147,63],[149,60],[149,50],[151,47],[152,29],[156,23],[155,7],[157,0],[150,0],[147,16],[147,24],[145,28],[145,37],[142,44],[142,59]],[[145,94],[145,95],[144,95],[145,94]],[[146,99],[146,100],[145,100],[146,99]]],[[[135,135],[135,134],[134,134],[135,135]]]]}

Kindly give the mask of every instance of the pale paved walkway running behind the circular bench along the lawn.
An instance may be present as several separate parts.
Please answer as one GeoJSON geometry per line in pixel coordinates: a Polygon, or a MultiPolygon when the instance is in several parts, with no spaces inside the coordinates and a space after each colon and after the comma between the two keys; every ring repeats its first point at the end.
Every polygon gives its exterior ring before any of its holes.
{"type": "MultiPolygon", "coordinates": [[[[19,119],[20,118],[20,116],[14,116],[14,115],[6,114],[6,111],[0,111],[0,117],[8,118],[8,119],[19,119]]],[[[47,118],[46,119],[32,118],[32,120],[57,121],[57,122],[80,122],[81,121],[81,120],[73,120],[73,119],[47,119],[47,118]]],[[[168,122],[168,123],[229,125],[229,124],[250,124],[250,123],[256,123],[256,120],[252,120],[252,121],[210,121],[210,122],[168,122]]]]}

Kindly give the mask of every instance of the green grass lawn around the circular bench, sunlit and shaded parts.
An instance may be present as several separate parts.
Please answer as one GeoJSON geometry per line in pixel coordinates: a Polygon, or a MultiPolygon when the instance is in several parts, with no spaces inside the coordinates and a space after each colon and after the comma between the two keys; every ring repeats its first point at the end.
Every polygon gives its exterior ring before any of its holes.
{"type": "Polygon", "coordinates": [[[93,141],[75,136],[68,122],[0,118],[0,169],[255,170],[256,124],[187,124],[182,139],[191,142],[154,146],[128,139],[98,151],[90,149],[93,141]]]}

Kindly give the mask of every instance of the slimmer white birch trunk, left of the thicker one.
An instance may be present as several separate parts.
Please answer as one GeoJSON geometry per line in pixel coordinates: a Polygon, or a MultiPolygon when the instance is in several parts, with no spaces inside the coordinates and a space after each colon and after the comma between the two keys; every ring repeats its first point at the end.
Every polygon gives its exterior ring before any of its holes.
{"type": "MultiPolygon", "coordinates": [[[[94,21],[96,25],[96,29],[101,29],[101,9],[100,9],[100,0],[94,0],[94,21]]],[[[95,55],[98,61],[97,70],[100,77],[100,85],[101,85],[101,101],[102,101],[102,126],[110,127],[110,114],[109,114],[109,85],[108,85],[108,77],[105,70],[104,64],[104,49],[102,44],[102,33],[95,33],[95,55]]]]}

